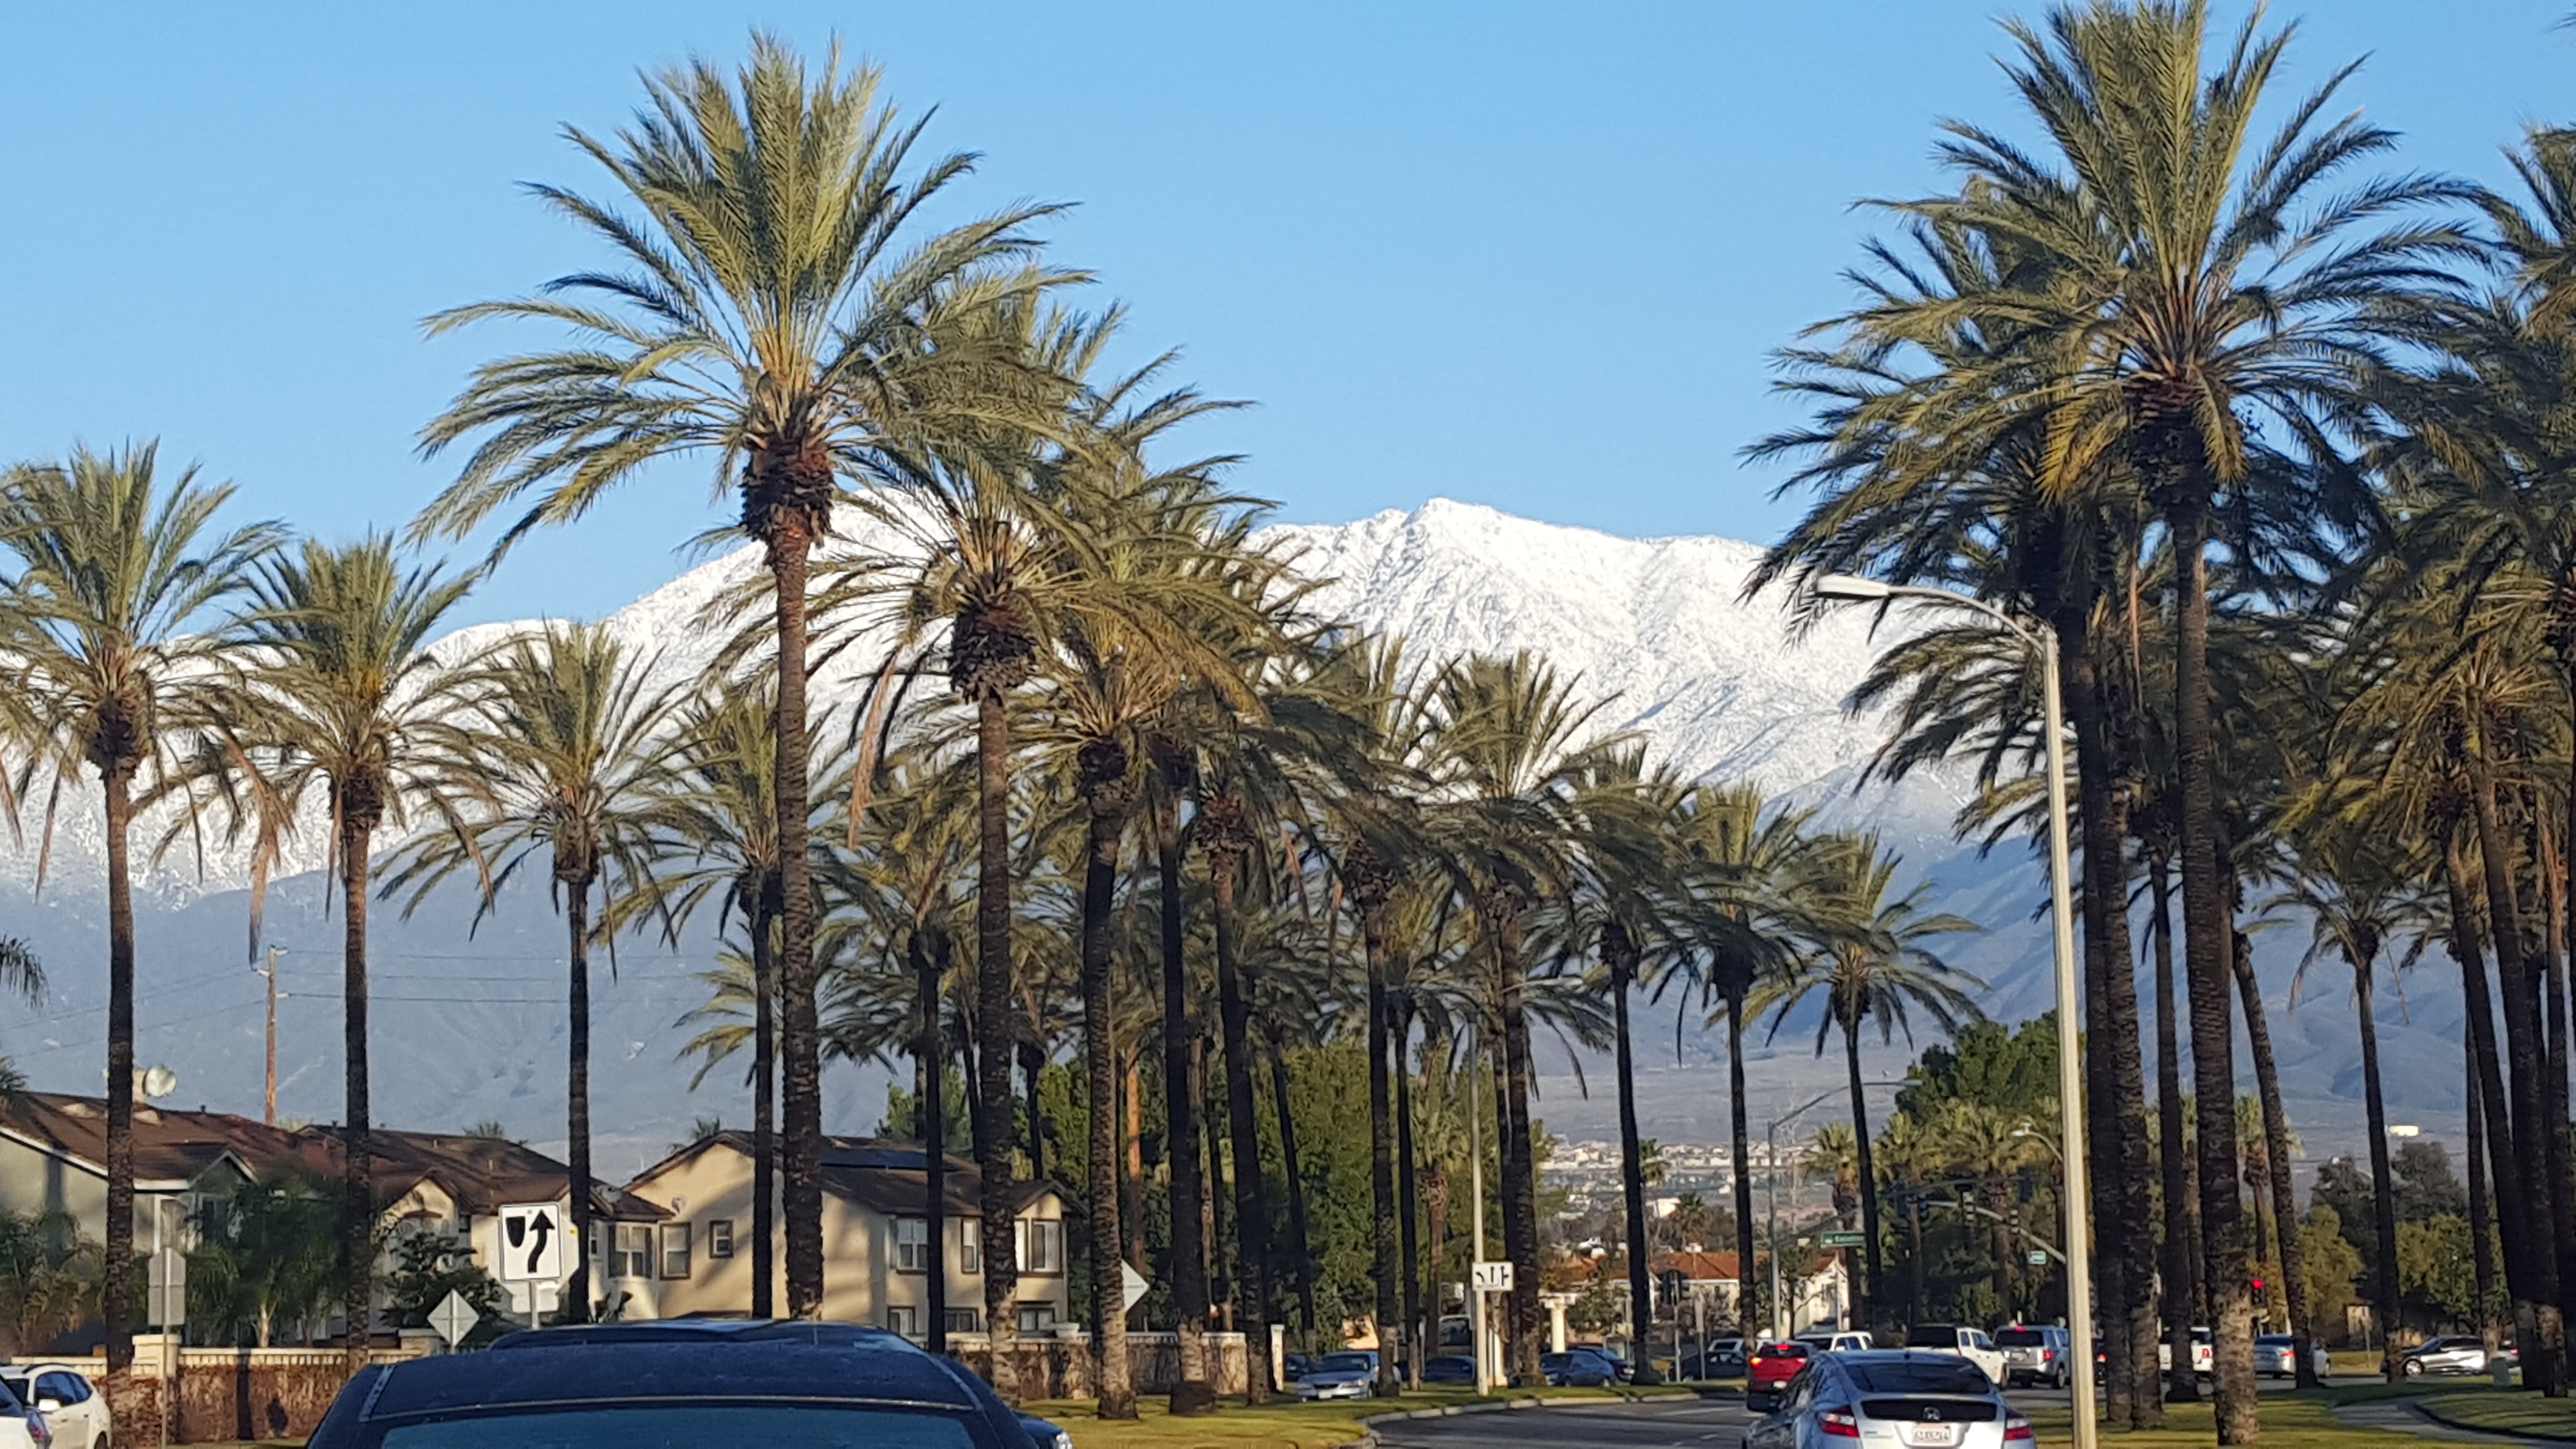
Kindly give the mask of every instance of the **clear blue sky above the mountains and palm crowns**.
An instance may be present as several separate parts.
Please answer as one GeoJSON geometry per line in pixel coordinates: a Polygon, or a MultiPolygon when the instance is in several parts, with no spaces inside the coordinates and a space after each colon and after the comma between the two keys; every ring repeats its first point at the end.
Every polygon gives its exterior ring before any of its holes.
{"type": "MultiPolygon", "coordinates": [[[[2298,85],[2403,165],[2501,180],[2576,119],[2571,0],[2331,0],[2298,85]]],[[[636,70],[750,26],[878,59],[961,193],[1077,201],[1061,263],[1136,348],[1260,402],[1195,446],[1332,521],[1432,495],[1623,534],[1770,539],[1739,449],[1765,356],[1837,312],[1857,196],[1935,183],[1940,116],[2009,121],[1991,0],[1669,5],[15,5],[0,15],[0,456],[162,436],[250,511],[345,536],[443,482],[412,433],[500,335],[438,307],[592,260],[515,191],[595,186],[559,139],[636,70]]],[[[2241,5],[2221,5],[2228,23],[2241,5]]],[[[595,614],[716,521],[706,469],[520,549],[477,619],[595,614]]]]}

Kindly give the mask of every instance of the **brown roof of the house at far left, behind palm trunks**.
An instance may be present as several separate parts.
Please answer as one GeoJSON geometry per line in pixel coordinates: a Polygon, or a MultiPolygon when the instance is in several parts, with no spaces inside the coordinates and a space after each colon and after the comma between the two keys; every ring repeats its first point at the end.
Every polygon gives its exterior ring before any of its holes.
{"type": "MultiPolygon", "coordinates": [[[[95,1096],[23,1093],[0,1106],[0,1132],[39,1150],[77,1160],[106,1176],[108,1104],[95,1096]]],[[[134,1106],[134,1176],[147,1183],[193,1183],[206,1168],[232,1158],[242,1173],[268,1178],[283,1171],[337,1176],[337,1127],[270,1127],[229,1111],[175,1111],[134,1106]]],[[[554,1201],[572,1183],[572,1168],[497,1137],[443,1132],[368,1132],[376,1191],[399,1196],[422,1181],[438,1183],[469,1214],[489,1214],[510,1201],[554,1201]]],[[[611,1220],[670,1217],[613,1183],[592,1183],[592,1212],[611,1220]]]]}

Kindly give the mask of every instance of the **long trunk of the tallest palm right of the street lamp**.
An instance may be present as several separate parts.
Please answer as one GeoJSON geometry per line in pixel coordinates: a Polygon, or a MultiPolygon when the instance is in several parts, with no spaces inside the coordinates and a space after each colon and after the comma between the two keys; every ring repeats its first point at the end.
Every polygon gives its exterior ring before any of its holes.
{"type": "Polygon", "coordinates": [[[2218,841],[2218,755],[2210,719],[2210,567],[2208,492],[2169,511],[2174,557],[2184,567],[2174,647],[2174,753],[2182,776],[2182,964],[2192,1000],[2192,1088],[2200,1127],[2200,1250],[2218,1323],[2213,1369],[2218,1441],[2262,1434],[2254,1405],[2254,1299],[2246,1284],[2244,1199],[2236,1196],[2236,1052],[2228,1008],[2228,869],[2218,841]]]}

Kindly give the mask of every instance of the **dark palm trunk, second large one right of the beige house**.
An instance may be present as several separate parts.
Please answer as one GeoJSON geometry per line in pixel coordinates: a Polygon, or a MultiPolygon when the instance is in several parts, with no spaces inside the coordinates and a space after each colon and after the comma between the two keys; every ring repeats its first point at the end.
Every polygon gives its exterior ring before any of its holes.
{"type": "Polygon", "coordinates": [[[1198,1085],[1190,1078],[1190,969],[1182,957],[1180,900],[1180,802],[1177,768],[1162,758],[1164,789],[1154,797],[1154,851],[1162,869],[1162,1155],[1170,1176],[1172,1258],[1164,1279],[1172,1284],[1172,1328],[1180,1336],[1180,1382],[1172,1385],[1172,1413],[1216,1410],[1208,1385],[1208,1240],[1198,1217],[1198,1085]]]}

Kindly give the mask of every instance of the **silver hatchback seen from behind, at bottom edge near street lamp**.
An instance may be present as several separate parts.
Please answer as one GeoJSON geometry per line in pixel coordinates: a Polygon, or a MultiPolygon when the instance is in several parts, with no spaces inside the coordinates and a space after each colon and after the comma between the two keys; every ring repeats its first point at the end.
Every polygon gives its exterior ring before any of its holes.
{"type": "Polygon", "coordinates": [[[1960,1354],[1865,1348],[1821,1354],[1752,1428],[1744,1449],[1834,1441],[1909,1449],[2032,1449],[2030,1421],[1960,1354]]]}

